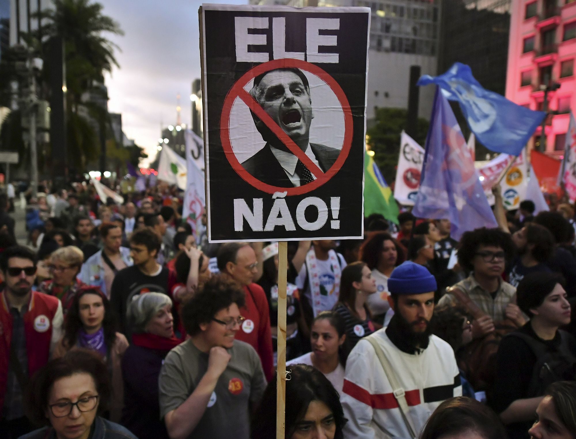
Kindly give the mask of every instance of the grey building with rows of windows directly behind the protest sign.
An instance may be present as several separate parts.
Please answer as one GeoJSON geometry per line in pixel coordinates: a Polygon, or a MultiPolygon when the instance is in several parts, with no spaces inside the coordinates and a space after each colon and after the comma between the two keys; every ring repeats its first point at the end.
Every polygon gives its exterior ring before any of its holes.
{"type": "MultiPolygon", "coordinates": [[[[372,9],[367,123],[377,108],[408,108],[410,66],[438,70],[439,0],[250,0],[252,5],[365,6],[372,9]]],[[[433,87],[420,89],[418,116],[430,119],[433,87]]]]}

